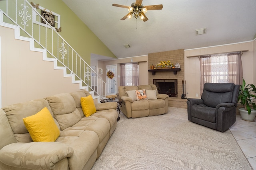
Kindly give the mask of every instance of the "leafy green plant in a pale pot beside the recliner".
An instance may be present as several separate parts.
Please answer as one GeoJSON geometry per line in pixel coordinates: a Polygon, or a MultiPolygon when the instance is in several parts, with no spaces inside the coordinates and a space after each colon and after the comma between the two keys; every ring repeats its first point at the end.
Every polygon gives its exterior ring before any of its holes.
{"type": "Polygon", "coordinates": [[[238,101],[244,106],[239,108],[241,118],[247,121],[254,121],[256,116],[256,88],[254,84],[247,84],[243,79],[243,84],[240,85],[238,101]],[[251,108],[253,107],[253,109],[251,108]]]}

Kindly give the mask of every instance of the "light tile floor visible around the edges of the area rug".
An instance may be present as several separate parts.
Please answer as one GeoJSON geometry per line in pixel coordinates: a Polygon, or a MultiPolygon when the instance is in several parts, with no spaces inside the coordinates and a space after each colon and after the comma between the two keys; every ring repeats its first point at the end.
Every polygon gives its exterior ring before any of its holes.
{"type": "MultiPolygon", "coordinates": [[[[188,120],[187,109],[177,107],[169,107],[168,113],[162,116],[188,120]]],[[[118,121],[117,124],[127,119],[122,112],[120,112],[119,117],[120,121],[118,121]]],[[[244,121],[241,119],[240,115],[237,115],[236,123],[230,127],[230,131],[250,162],[253,170],[256,170],[256,122],[244,121]]]]}

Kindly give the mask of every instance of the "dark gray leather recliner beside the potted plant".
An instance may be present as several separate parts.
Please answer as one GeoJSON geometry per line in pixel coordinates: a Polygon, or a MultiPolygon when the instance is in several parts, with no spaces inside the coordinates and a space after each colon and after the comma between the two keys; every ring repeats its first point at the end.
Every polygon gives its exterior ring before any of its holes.
{"type": "Polygon", "coordinates": [[[188,120],[224,132],[236,122],[239,85],[205,83],[201,99],[188,98],[188,120]]]}

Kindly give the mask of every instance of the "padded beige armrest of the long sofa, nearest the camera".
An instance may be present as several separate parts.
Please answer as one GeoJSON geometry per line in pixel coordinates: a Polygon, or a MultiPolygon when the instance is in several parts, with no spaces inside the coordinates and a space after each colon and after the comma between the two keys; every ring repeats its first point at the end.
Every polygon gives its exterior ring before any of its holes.
{"type": "Polygon", "coordinates": [[[0,150],[2,163],[18,168],[50,169],[74,150],[59,142],[12,143],[0,150]]]}

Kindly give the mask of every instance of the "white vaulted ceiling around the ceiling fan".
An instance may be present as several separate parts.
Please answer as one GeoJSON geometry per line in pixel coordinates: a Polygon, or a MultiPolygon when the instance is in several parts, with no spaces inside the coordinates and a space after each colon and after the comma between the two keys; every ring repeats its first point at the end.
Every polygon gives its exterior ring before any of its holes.
{"type": "Polygon", "coordinates": [[[121,21],[128,9],[112,6],[135,0],[63,1],[117,58],[252,41],[256,34],[256,0],[144,0],[144,6],[163,4],[148,10],[146,22],[121,21]],[[196,35],[205,27],[206,34],[196,35]]]}

